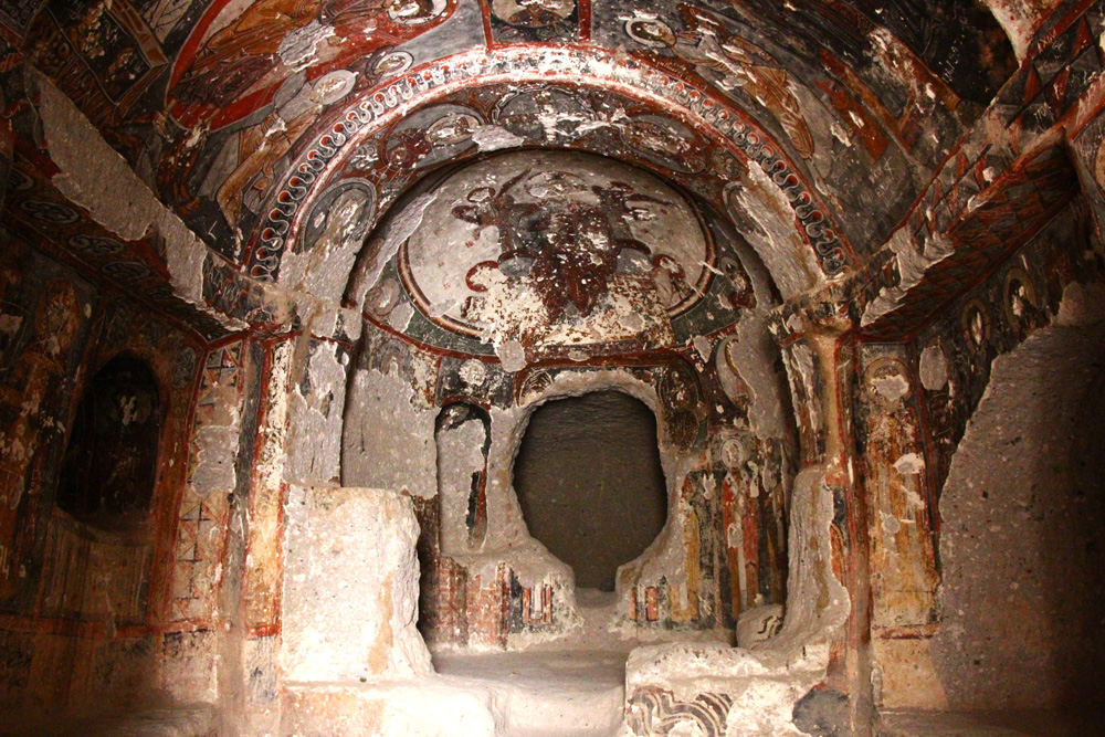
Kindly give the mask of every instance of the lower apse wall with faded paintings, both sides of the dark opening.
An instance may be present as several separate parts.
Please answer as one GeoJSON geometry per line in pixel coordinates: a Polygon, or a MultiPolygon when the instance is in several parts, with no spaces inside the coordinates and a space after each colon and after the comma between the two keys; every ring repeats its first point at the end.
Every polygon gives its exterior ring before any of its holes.
{"type": "MultiPolygon", "coordinates": [[[[718,350],[725,351],[727,346],[722,341],[718,350]]],[[[478,359],[433,359],[366,326],[366,341],[350,379],[345,483],[390,483],[422,501],[417,507],[423,527],[422,560],[432,568],[423,578],[423,586],[430,589],[423,592],[423,606],[434,608],[432,614],[427,613],[423,624],[436,623],[423,629],[427,636],[454,644],[480,639],[502,643],[505,642],[502,638],[509,639],[507,633],[520,635],[549,628],[556,632],[562,628],[557,613],[561,607],[566,611],[565,621],[571,622],[571,599],[560,600],[562,596],[570,597],[570,590],[562,589],[556,579],[547,580],[543,572],[557,570],[559,564],[537,549],[523,552],[534,541],[526,531],[512,486],[514,454],[528,413],[537,404],[562,396],[558,392],[581,393],[603,388],[621,388],[631,393],[644,390],[632,388],[634,383],[651,392],[650,401],[660,414],[671,518],[666,531],[642,559],[653,562],[639,561],[623,571],[619,583],[624,599],[622,615],[634,628],[708,629],[732,627],[745,609],[781,603],[793,457],[785,431],[786,410],[778,406],[768,409],[769,402],[778,401],[777,390],[771,389],[774,369],[751,361],[754,370],[764,371],[749,375],[756,382],[754,390],[744,379],[736,378],[736,370],[724,357],[718,358],[726,381],[739,383],[726,387],[736,397],[734,401],[725,394],[725,389],[713,383],[716,381],[713,377],[717,376],[714,364],[712,360],[701,366],[674,360],[666,368],[663,365],[634,368],[621,379],[609,368],[546,367],[515,378],[478,359]],[[436,371],[431,360],[440,361],[436,371]],[[430,368],[423,371],[419,369],[422,366],[430,368]],[[706,372],[708,378],[698,379],[697,371],[706,372]],[[408,378],[402,378],[403,375],[408,378]],[[423,377],[433,380],[436,389],[423,377]],[[630,380],[631,377],[635,378],[630,380]],[[557,385],[561,386],[550,389],[557,385]],[[759,396],[754,391],[760,392],[759,396]],[[460,525],[464,530],[464,523],[442,518],[443,514],[454,514],[448,513],[453,508],[450,505],[460,505],[457,514],[464,517],[469,487],[461,489],[463,498],[444,504],[434,499],[439,492],[438,474],[445,473],[452,461],[440,455],[448,446],[434,441],[435,410],[430,402],[443,401],[448,406],[457,396],[491,408],[492,440],[484,492],[486,529],[485,537],[474,547],[469,543],[450,544],[448,539],[472,538],[467,531],[446,535],[444,528],[460,525]],[[715,407],[720,414],[712,411],[715,407]],[[690,425],[683,422],[684,417],[693,418],[699,412],[701,420],[690,425]],[[725,413],[734,413],[736,428],[728,424],[734,420],[725,413]],[[759,436],[749,428],[749,415],[758,423],[755,428],[768,432],[781,429],[785,434],[759,436]],[[412,453],[412,448],[424,450],[412,453]],[[380,463],[379,459],[394,462],[380,463]],[[533,555],[537,555],[535,561],[525,562],[533,555]],[[543,559],[545,562],[535,568],[535,562],[543,559]],[[508,567],[501,569],[496,562],[487,568],[495,560],[509,561],[508,567]],[[475,572],[472,580],[466,575],[457,578],[457,565],[461,569],[474,566],[473,571],[482,570],[481,583],[474,582],[475,572]],[[491,599],[486,599],[488,594],[491,599]],[[488,603],[478,603],[485,600],[488,603]],[[480,610],[486,606],[496,612],[490,619],[490,612],[480,610]],[[481,633],[474,621],[492,627],[493,632],[481,633]]]]}

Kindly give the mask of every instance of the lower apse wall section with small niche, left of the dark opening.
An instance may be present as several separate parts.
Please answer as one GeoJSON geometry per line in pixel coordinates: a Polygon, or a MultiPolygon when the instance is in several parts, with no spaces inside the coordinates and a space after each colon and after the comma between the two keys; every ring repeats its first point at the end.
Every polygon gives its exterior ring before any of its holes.
{"type": "MultiPolygon", "coordinates": [[[[457,450],[462,455],[465,452],[446,443],[442,446],[446,457],[438,456],[435,424],[440,410],[435,397],[446,397],[441,368],[446,362],[445,371],[449,367],[459,370],[460,362],[443,361],[440,356],[386,337],[366,325],[346,409],[345,483],[387,483],[415,499],[422,528],[419,552],[427,567],[421,593],[423,606],[430,606],[420,627],[428,640],[435,644],[503,647],[512,634],[562,632],[575,622],[570,591],[564,583],[564,567],[523,540],[516,502],[513,513],[507,512],[504,518],[505,489],[502,481],[496,481],[496,475],[502,474],[493,471],[501,464],[490,464],[484,481],[486,537],[477,545],[470,545],[464,520],[448,518],[454,502],[466,508],[469,489],[464,489],[463,499],[444,504],[439,496],[439,468],[448,476],[450,463],[455,462],[450,460],[449,452],[457,450]],[[380,459],[386,462],[379,462],[380,459]],[[443,536],[441,530],[445,526],[454,531],[459,526],[462,531],[443,536]],[[450,546],[446,538],[457,536],[461,541],[450,546]],[[448,554],[443,551],[443,541],[448,554]],[[523,600],[536,603],[523,607],[523,600]],[[435,623],[432,628],[431,622],[435,623]]],[[[481,368],[484,376],[478,383],[486,383],[486,375],[495,370],[483,368],[482,364],[481,368]]],[[[501,375],[502,378],[505,377],[501,375]]],[[[449,380],[460,379],[453,373],[449,380]]],[[[471,376],[469,380],[475,381],[471,376]]],[[[477,407],[490,404],[488,386],[473,389],[466,394],[469,401],[477,407]]],[[[501,390],[498,393],[508,397],[501,390]]],[[[443,401],[448,406],[449,399],[443,401]]],[[[493,411],[492,430],[502,427],[495,414],[493,411]]],[[[481,440],[478,445],[485,442],[492,448],[502,445],[502,440],[494,439],[481,440]]],[[[498,454],[502,456],[502,452],[498,454]]],[[[448,484],[445,488],[450,488],[448,484]]]]}

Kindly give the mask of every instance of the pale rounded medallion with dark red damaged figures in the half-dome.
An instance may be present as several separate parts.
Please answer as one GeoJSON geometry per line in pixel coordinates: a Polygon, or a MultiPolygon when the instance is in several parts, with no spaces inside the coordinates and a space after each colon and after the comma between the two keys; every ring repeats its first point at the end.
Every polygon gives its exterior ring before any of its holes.
{"type": "Polygon", "coordinates": [[[702,298],[714,271],[691,203],[610,159],[508,154],[431,194],[400,250],[400,275],[430,319],[466,335],[516,333],[504,323],[598,324],[613,313],[670,317],[702,298]]]}

